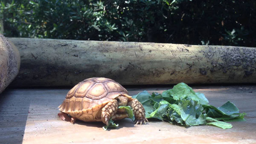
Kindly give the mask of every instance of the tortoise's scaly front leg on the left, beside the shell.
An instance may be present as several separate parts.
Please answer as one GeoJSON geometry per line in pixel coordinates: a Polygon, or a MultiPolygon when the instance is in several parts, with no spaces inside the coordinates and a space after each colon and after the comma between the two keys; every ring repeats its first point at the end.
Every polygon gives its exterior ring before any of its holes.
{"type": "Polygon", "coordinates": [[[108,125],[108,121],[117,112],[117,101],[114,99],[102,108],[102,122],[108,125]]]}

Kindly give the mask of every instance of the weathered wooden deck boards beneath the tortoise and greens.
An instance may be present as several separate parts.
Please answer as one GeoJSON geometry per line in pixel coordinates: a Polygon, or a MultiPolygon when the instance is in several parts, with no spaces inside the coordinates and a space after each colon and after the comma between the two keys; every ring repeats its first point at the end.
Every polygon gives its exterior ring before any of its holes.
{"type": "MultiPolygon", "coordinates": [[[[128,88],[130,95],[143,90],[163,92],[168,86],[128,88]]],[[[58,118],[58,106],[69,89],[7,89],[0,94],[0,143],[256,143],[256,86],[192,86],[210,104],[219,107],[228,100],[246,112],[247,121],[231,122],[232,129],[213,126],[180,127],[149,121],[134,125],[118,121],[119,128],[102,130],[102,123],[78,121],[71,124],[58,118]]]]}

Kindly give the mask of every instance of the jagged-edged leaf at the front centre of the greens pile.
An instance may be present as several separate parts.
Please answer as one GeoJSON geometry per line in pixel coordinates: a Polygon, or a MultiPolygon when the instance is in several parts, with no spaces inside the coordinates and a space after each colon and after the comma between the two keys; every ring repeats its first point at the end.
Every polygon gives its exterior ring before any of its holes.
{"type": "Polygon", "coordinates": [[[203,114],[204,108],[198,101],[180,100],[180,117],[185,121],[186,126],[196,126],[206,124],[206,114],[203,114]]]}

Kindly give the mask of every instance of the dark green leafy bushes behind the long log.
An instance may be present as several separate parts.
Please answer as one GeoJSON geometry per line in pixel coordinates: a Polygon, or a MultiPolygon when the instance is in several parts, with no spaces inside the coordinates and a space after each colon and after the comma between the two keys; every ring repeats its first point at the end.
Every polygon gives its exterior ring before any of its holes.
{"type": "Polygon", "coordinates": [[[256,46],[255,0],[1,0],[6,37],[256,46]]]}

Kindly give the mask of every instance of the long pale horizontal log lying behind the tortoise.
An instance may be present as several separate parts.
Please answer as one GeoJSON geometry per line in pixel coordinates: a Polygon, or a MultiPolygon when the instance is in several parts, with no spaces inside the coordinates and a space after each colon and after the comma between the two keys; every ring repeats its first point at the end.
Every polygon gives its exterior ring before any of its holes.
{"type": "Polygon", "coordinates": [[[256,83],[256,49],[237,46],[9,38],[20,50],[14,86],[256,83]]]}

